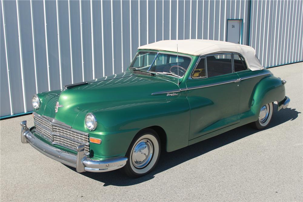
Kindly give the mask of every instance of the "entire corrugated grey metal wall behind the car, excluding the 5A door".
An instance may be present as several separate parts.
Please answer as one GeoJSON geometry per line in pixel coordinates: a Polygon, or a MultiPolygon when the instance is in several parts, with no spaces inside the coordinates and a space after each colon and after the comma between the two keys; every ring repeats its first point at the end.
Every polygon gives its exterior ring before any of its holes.
{"type": "Polygon", "coordinates": [[[302,61],[302,7],[300,0],[1,1],[1,117],[32,111],[37,92],[124,71],[139,45],[225,41],[227,19],[243,19],[243,44],[263,66],[302,61]]]}

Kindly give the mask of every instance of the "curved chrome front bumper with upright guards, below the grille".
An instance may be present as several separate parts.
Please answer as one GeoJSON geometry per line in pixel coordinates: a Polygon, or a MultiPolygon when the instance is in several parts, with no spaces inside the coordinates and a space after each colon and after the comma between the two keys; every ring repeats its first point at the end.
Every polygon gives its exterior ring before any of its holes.
{"type": "Polygon", "coordinates": [[[95,161],[87,157],[84,153],[84,145],[77,147],[78,154],[68,153],[56,147],[52,147],[35,137],[26,126],[26,121],[21,123],[21,142],[29,143],[42,154],[61,162],[62,164],[75,167],[77,172],[107,172],[122,168],[127,162],[126,157],[113,157],[102,161],[95,161]]]}

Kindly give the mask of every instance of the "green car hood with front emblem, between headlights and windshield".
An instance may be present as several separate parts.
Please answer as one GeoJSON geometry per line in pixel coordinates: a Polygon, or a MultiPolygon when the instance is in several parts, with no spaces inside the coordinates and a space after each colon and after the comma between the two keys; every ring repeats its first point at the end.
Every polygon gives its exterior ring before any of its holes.
{"type": "Polygon", "coordinates": [[[157,96],[151,95],[152,93],[176,89],[179,87],[173,77],[123,72],[88,81],[87,84],[69,87],[69,89],[43,93],[42,104],[37,113],[72,126],[80,112],[86,114],[100,109],[110,110],[155,102],[166,99],[166,95],[157,96]],[[58,112],[55,112],[57,102],[58,112]]]}

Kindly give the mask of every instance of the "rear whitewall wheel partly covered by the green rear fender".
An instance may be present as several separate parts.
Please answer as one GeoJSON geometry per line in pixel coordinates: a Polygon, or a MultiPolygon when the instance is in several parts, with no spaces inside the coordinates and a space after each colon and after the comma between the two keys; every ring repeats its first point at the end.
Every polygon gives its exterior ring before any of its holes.
{"type": "Polygon", "coordinates": [[[261,107],[258,120],[252,122],[252,125],[258,130],[262,130],[263,128],[267,127],[271,121],[272,110],[273,110],[272,103],[263,105],[261,107]]]}

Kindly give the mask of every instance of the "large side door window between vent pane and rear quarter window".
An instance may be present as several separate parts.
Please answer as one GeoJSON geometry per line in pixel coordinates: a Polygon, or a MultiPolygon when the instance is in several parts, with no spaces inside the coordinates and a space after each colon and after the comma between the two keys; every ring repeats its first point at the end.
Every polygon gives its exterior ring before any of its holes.
{"type": "Polygon", "coordinates": [[[232,73],[231,54],[207,56],[206,62],[208,78],[232,73]]]}

